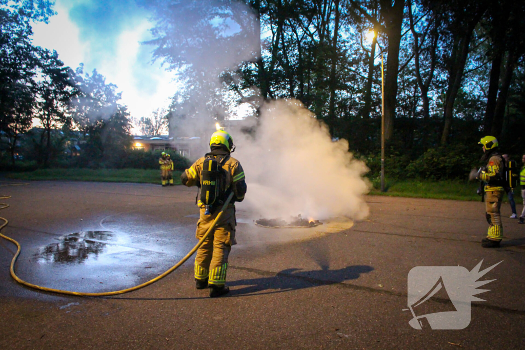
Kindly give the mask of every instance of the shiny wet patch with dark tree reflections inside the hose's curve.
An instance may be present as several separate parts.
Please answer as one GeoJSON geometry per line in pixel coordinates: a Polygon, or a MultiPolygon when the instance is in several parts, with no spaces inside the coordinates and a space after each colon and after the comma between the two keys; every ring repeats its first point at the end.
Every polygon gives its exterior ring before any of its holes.
{"type": "Polygon", "coordinates": [[[185,252],[126,232],[80,231],[56,237],[17,264],[20,278],[30,283],[76,292],[106,292],[156,277],[185,252]]]}

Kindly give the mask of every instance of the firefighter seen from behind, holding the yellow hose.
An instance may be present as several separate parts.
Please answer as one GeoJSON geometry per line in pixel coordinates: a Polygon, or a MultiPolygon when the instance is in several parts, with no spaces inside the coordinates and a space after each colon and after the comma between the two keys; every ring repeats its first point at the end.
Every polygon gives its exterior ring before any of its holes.
{"type": "MultiPolygon", "coordinates": [[[[195,281],[197,289],[211,288],[209,296],[214,298],[229,292],[226,287],[226,271],[228,269],[228,254],[232,246],[236,244],[235,240],[235,201],[242,201],[246,193],[246,182],[243,167],[238,160],[230,156],[235,150],[232,136],[226,131],[219,130],[213,133],[209,141],[211,152],[206,153],[204,157],[199,158],[193,165],[181,174],[183,185],[201,187],[201,178],[203,173],[203,164],[210,164],[212,158],[222,166],[218,169],[223,171],[225,176],[226,189],[220,197],[225,200],[233,191],[234,196],[230,204],[224,210],[224,213],[217,221],[212,234],[204,241],[203,245],[197,250],[195,257],[195,281]]],[[[202,197],[202,196],[201,196],[202,197]]],[[[218,204],[209,208],[204,205],[204,198],[198,200],[197,205],[200,208],[200,216],[197,221],[196,238],[201,239],[212,221],[222,207],[218,204]],[[202,199],[202,200],[201,200],[202,199]],[[206,214],[209,210],[209,215],[206,214]]],[[[220,201],[219,201],[220,203],[220,201]]],[[[224,201],[223,201],[224,203],[224,201]]]]}

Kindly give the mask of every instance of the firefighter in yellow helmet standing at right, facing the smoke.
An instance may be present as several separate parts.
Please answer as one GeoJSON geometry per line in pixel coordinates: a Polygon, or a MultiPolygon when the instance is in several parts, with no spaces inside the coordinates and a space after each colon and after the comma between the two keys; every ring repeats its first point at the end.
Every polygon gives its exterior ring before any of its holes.
{"type": "Polygon", "coordinates": [[[480,169],[478,178],[485,182],[485,208],[486,218],[489,223],[487,237],[481,241],[484,248],[497,248],[503,237],[501,224],[501,199],[505,194],[505,160],[497,152],[498,140],[494,136],[485,136],[479,144],[483,145],[482,162],[487,162],[480,169]]]}

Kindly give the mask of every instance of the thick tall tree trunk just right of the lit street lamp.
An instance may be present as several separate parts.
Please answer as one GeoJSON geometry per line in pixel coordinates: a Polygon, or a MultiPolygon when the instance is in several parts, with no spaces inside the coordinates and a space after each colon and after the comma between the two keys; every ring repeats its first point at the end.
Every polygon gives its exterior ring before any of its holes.
{"type": "Polygon", "coordinates": [[[386,35],[388,37],[388,53],[385,77],[385,140],[390,140],[394,133],[394,118],[397,101],[397,75],[399,70],[399,50],[401,44],[401,28],[403,24],[404,0],[381,0],[381,14],[385,19],[386,35]]]}

